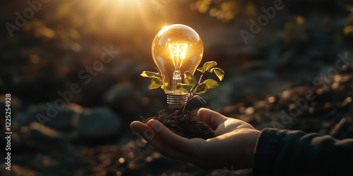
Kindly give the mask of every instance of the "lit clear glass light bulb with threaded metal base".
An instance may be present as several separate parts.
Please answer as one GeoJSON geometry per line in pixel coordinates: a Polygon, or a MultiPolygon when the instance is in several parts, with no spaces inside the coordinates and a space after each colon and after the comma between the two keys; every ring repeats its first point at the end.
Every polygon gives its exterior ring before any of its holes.
{"type": "Polygon", "coordinates": [[[153,61],[160,70],[167,94],[167,103],[172,108],[182,108],[187,93],[177,89],[183,82],[184,73],[195,73],[203,56],[203,44],[198,33],[186,25],[164,27],[152,43],[153,61]]]}

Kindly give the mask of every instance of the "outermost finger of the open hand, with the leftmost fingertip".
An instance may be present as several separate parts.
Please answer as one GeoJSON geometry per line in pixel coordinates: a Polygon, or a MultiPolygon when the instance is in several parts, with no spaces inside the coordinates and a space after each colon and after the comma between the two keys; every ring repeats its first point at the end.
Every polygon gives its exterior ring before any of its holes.
{"type": "Polygon", "coordinates": [[[193,158],[190,155],[187,155],[185,153],[172,149],[168,144],[166,144],[159,137],[159,135],[154,130],[152,130],[152,128],[149,125],[145,125],[145,123],[143,122],[135,121],[131,123],[130,127],[131,127],[131,130],[140,134],[143,137],[143,139],[145,139],[148,142],[148,144],[150,144],[157,151],[160,151],[162,155],[168,156],[171,158],[176,158],[182,161],[187,161],[190,163],[201,163],[201,161],[198,161],[198,159],[193,158]]]}

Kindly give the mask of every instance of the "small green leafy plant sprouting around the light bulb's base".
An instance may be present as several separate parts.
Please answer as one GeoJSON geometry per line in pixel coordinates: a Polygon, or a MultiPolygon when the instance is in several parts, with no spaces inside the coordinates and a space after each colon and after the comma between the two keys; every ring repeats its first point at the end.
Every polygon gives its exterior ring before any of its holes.
{"type": "MultiPolygon", "coordinates": [[[[197,70],[201,72],[200,79],[197,81],[196,78],[193,76],[192,73],[189,71],[186,71],[184,73],[184,83],[178,83],[177,84],[177,89],[183,92],[188,92],[188,99],[184,105],[183,108],[183,113],[185,111],[186,105],[191,101],[193,98],[197,98],[201,103],[205,104],[206,101],[199,96],[199,94],[203,94],[208,91],[208,89],[212,89],[215,87],[218,87],[218,83],[215,80],[208,79],[203,82],[202,78],[205,73],[215,73],[217,77],[220,79],[220,81],[223,80],[223,77],[225,77],[225,72],[220,69],[220,68],[215,68],[215,65],[217,63],[215,61],[210,61],[206,62],[203,64],[202,68],[198,68],[197,70]]],[[[158,70],[158,69],[157,69],[158,70]]],[[[162,77],[160,75],[160,71],[158,70],[158,73],[153,73],[153,72],[148,72],[148,71],[143,71],[141,74],[143,77],[152,77],[152,80],[150,82],[150,85],[148,85],[148,89],[157,89],[161,87],[164,89],[164,87],[167,86],[167,82],[163,82],[162,77]]]]}

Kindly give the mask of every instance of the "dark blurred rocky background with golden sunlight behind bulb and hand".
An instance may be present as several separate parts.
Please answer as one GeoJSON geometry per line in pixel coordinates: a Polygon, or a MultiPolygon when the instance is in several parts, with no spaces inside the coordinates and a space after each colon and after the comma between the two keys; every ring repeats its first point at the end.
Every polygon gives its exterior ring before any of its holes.
{"type": "Polygon", "coordinates": [[[175,23],[200,35],[201,64],[225,71],[202,95],[208,103],[193,100],[189,111],[211,108],[258,130],[353,137],[353,2],[274,2],[1,1],[0,104],[4,114],[11,94],[13,132],[11,172],[1,163],[1,175],[252,175],[165,158],[129,129],[173,112],[140,73],[155,71],[152,40],[175,23]]]}

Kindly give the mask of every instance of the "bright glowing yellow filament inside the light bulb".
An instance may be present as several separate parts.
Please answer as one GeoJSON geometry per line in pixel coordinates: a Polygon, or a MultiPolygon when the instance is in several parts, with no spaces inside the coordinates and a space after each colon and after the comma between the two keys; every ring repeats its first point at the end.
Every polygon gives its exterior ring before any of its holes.
{"type": "Polygon", "coordinates": [[[185,58],[188,44],[169,44],[170,54],[175,68],[180,68],[185,58]]]}

